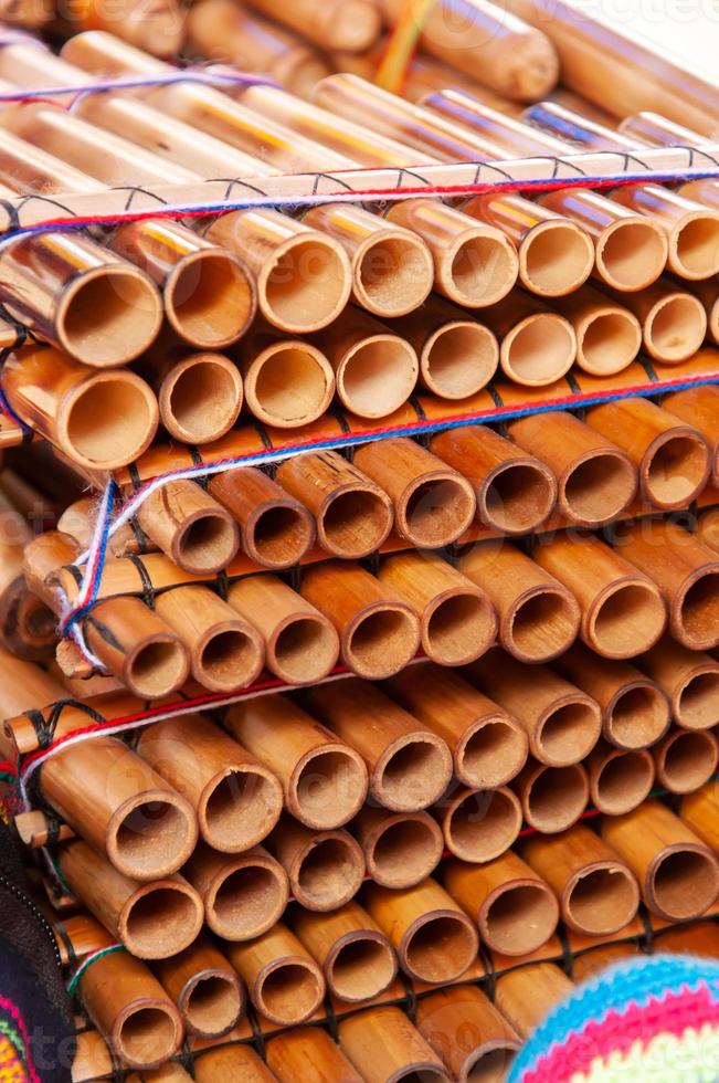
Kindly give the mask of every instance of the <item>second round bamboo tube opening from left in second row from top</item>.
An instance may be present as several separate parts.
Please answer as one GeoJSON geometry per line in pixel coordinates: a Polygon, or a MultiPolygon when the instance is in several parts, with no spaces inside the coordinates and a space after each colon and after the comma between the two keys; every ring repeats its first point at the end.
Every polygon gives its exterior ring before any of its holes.
{"type": "Polygon", "coordinates": [[[158,401],[171,437],[183,443],[207,443],[224,435],[237,420],[242,377],[222,354],[192,354],[162,380],[158,401]]]}

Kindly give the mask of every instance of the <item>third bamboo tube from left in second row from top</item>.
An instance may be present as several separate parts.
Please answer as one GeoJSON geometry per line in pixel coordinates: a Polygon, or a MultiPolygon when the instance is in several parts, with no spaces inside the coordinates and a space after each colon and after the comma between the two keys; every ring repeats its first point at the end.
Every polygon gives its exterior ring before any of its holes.
{"type": "Polygon", "coordinates": [[[265,424],[296,429],[329,408],[335,376],[325,354],[299,338],[262,327],[240,344],[247,409],[265,424]]]}

